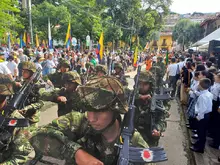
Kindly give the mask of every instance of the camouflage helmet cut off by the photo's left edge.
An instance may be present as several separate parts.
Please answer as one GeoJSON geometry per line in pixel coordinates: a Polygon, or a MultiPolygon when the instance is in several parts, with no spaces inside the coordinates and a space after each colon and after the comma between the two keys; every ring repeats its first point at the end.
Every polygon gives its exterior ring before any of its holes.
{"type": "Polygon", "coordinates": [[[13,95],[13,81],[5,74],[0,73],[0,95],[13,95]]]}

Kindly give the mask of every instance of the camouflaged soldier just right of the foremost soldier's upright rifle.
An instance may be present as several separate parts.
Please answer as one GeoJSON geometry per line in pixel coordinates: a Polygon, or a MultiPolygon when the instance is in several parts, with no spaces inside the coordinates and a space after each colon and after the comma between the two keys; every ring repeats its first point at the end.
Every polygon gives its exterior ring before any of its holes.
{"type": "Polygon", "coordinates": [[[139,77],[139,96],[135,100],[135,128],[150,146],[157,146],[162,132],[166,129],[164,112],[151,111],[151,98],[154,93],[155,80],[149,71],[141,72],[139,77]]]}

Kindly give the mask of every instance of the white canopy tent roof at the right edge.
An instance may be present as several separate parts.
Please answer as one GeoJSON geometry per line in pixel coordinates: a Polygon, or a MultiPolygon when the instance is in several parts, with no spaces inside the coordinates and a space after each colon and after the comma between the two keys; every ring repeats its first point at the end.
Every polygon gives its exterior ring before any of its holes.
{"type": "Polygon", "coordinates": [[[197,41],[192,46],[199,47],[199,46],[202,46],[204,44],[208,44],[209,41],[211,41],[211,40],[220,40],[220,28],[218,28],[217,30],[215,30],[211,34],[207,35],[203,39],[197,41]]]}

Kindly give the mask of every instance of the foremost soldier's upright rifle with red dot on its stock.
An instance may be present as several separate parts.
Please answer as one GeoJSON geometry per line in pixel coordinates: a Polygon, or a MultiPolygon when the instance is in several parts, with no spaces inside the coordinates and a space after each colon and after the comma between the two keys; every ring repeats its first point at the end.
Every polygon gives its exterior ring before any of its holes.
{"type": "Polygon", "coordinates": [[[166,161],[167,156],[163,148],[138,148],[131,147],[130,141],[134,133],[134,115],[135,115],[135,95],[138,90],[138,80],[141,72],[141,66],[138,66],[137,76],[135,79],[134,90],[129,98],[129,111],[124,117],[121,137],[123,142],[116,144],[118,147],[118,165],[128,165],[129,163],[155,163],[166,161]]]}

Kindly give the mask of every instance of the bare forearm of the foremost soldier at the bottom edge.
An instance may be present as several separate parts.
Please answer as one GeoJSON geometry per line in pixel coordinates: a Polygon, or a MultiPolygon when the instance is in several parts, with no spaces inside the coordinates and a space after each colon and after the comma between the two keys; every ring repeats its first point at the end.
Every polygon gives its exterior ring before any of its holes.
{"type": "Polygon", "coordinates": [[[76,164],[78,165],[104,165],[100,160],[88,154],[82,149],[76,151],[75,154],[76,164]]]}

